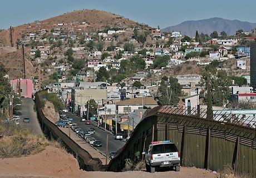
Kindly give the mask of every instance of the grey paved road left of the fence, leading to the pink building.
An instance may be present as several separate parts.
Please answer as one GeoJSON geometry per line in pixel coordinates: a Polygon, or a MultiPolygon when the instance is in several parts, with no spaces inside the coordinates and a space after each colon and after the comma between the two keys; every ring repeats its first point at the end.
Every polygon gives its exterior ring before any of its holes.
{"type": "Polygon", "coordinates": [[[19,124],[30,130],[33,134],[41,135],[42,130],[37,120],[37,114],[34,111],[34,101],[31,98],[22,98],[22,115],[20,116],[19,124]],[[29,123],[24,123],[23,118],[29,118],[29,123]]]}

